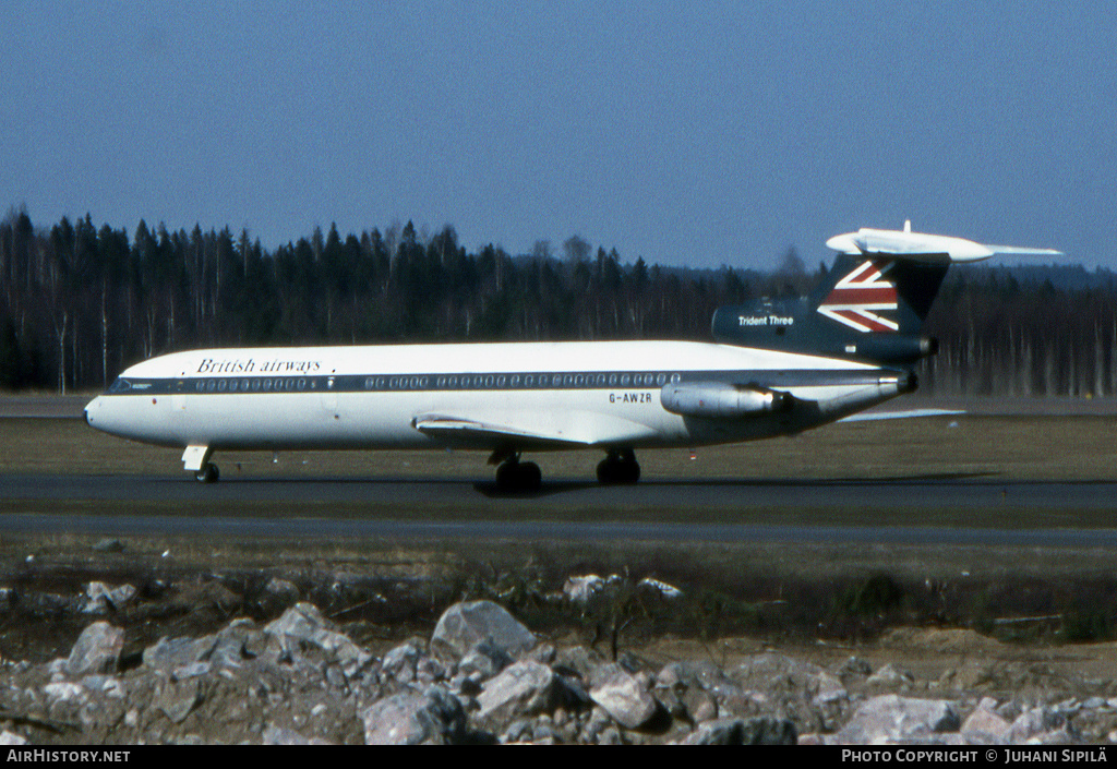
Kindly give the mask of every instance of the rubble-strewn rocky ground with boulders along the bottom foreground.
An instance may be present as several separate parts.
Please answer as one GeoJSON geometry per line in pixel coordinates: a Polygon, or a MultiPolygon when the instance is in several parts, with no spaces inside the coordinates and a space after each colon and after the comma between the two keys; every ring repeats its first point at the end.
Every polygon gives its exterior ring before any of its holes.
{"type": "MultiPolygon", "coordinates": [[[[584,575],[548,600],[570,616],[619,591],[669,605],[676,590],[584,575]]],[[[0,743],[1117,741],[1117,654],[1105,644],[900,628],[853,645],[618,648],[608,633],[537,632],[493,600],[448,602],[432,629],[391,638],[344,611],[328,618],[306,592],[271,577],[254,598],[265,621],[220,618],[246,605],[216,579],[0,587],[4,646],[18,649],[0,663],[0,743]],[[183,610],[189,621],[168,621],[183,610]],[[82,629],[57,653],[47,635],[21,645],[15,628],[32,633],[20,623],[32,615],[82,629]]]]}

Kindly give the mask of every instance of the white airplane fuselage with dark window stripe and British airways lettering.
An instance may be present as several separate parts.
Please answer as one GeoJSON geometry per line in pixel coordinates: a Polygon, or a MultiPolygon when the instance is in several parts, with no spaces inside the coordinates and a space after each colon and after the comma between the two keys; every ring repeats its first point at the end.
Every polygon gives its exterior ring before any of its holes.
{"type": "Polygon", "coordinates": [[[125,438],[207,452],[698,446],[827,424],[907,391],[907,377],[698,342],[217,349],[128,368],[86,418],[125,438]],[[661,404],[672,382],[764,388],[790,393],[794,406],[680,416],[661,404]]]}

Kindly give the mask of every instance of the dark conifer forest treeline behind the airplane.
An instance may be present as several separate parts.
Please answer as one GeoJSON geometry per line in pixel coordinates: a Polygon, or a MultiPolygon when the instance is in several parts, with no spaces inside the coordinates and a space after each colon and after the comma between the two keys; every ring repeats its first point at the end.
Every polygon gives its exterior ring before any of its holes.
{"type": "MultiPolygon", "coordinates": [[[[701,244],[696,244],[696,250],[701,244]]],[[[696,256],[698,254],[696,253],[696,256]]],[[[703,255],[705,256],[705,255],[703,255]]],[[[771,274],[624,263],[575,235],[512,256],[451,226],[344,237],[336,226],[266,250],[247,230],[0,221],[0,389],[102,389],[128,365],[211,346],[449,341],[708,341],[723,304],[805,293],[794,249],[771,274]]],[[[1108,275],[1108,274],[1107,274],[1108,275]]],[[[934,395],[1117,393],[1117,286],[953,269],[928,317],[934,395]]]]}

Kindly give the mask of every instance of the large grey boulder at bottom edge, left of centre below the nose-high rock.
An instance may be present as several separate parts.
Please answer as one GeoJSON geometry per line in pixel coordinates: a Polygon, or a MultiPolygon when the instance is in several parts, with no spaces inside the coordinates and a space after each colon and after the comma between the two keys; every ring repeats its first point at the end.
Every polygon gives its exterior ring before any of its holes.
{"type": "Polygon", "coordinates": [[[455,744],[467,733],[461,703],[441,686],[379,700],[361,719],[365,744],[455,744]]]}

